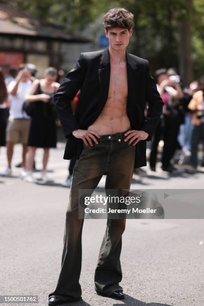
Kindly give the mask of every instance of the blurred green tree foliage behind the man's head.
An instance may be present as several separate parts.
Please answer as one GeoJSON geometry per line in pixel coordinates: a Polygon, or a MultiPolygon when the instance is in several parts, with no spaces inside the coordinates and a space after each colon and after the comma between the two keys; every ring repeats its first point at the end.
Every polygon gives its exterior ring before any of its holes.
{"type": "MultiPolygon", "coordinates": [[[[151,59],[153,69],[178,67],[179,22],[191,26],[192,59],[195,76],[204,69],[204,1],[193,0],[11,0],[20,9],[43,20],[62,24],[77,33],[111,7],[125,7],[134,14],[134,31],[130,50],[151,59]],[[202,57],[202,58],[201,58],[202,57]]],[[[101,31],[102,31],[101,26],[101,31]]]]}

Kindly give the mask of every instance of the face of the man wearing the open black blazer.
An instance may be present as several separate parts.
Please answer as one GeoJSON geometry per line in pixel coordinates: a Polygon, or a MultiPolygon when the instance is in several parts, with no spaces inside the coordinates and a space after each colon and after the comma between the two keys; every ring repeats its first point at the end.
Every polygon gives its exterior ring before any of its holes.
{"type": "Polygon", "coordinates": [[[127,28],[112,27],[105,30],[105,35],[109,39],[109,45],[115,51],[123,50],[129,43],[129,38],[132,35],[132,28],[128,31],[127,28]]]}

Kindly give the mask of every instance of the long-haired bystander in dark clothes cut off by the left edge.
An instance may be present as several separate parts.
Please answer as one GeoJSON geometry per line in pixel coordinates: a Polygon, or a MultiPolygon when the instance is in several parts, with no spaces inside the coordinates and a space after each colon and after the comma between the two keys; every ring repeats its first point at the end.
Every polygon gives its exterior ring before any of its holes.
{"type": "Polygon", "coordinates": [[[0,147],[5,146],[5,129],[8,117],[8,94],[2,69],[0,68],[0,147]]]}

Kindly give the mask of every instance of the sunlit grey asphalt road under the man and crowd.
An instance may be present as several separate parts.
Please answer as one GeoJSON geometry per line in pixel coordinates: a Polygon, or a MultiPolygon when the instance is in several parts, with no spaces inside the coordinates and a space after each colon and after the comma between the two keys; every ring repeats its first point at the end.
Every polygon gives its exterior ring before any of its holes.
{"type": "MultiPolygon", "coordinates": [[[[51,185],[30,184],[19,178],[0,177],[0,295],[38,295],[47,305],[60,270],[65,209],[69,189],[60,186],[67,174],[63,143],[51,150],[48,175],[51,185]]],[[[36,165],[40,168],[41,149],[36,165]]],[[[13,164],[20,161],[16,145],[13,164]]],[[[0,171],[5,149],[0,152],[0,171]]],[[[34,173],[37,177],[38,172],[34,173]]],[[[202,188],[204,173],[183,171],[133,175],[131,188],[202,188]]],[[[104,185],[104,177],[99,187],[104,185]]],[[[201,205],[202,203],[200,203],[201,205]]],[[[105,219],[86,219],[82,235],[82,300],[64,306],[202,306],[204,305],[203,219],[128,219],[122,240],[121,285],[124,300],[96,295],[94,268],[105,229],[105,219]]],[[[2,303],[2,305],[19,305],[2,303]]]]}

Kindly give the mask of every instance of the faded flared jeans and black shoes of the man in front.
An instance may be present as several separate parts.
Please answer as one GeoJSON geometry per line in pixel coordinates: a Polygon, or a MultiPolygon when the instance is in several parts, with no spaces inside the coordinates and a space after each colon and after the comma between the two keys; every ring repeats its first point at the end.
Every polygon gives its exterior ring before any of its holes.
{"type": "MultiPolygon", "coordinates": [[[[129,189],[134,169],[135,146],[124,141],[124,133],[101,135],[98,144],[83,145],[73,168],[69,203],[66,210],[64,246],[61,271],[56,288],[49,294],[62,300],[81,296],[79,277],[81,271],[81,234],[84,219],[78,218],[78,190],[95,189],[106,174],[105,189],[129,189]]],[[[95,269],[95,290],[111,295],[121,290],[122,279],[120,252],[125,218],[107,219],[105,233],[95,269]]]]}

